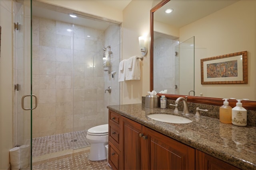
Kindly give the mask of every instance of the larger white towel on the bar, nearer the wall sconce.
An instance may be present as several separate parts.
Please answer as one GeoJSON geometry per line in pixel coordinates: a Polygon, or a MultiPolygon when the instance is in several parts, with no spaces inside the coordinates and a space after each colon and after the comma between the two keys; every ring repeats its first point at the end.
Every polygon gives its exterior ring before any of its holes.
{"type": "Polygon", "coordinates": [[[137,56],[131,58],[132,68],[127,68],[128,66],[126,66],[125,80],[140,80],[140,60],[137,59],[137,56]]]}

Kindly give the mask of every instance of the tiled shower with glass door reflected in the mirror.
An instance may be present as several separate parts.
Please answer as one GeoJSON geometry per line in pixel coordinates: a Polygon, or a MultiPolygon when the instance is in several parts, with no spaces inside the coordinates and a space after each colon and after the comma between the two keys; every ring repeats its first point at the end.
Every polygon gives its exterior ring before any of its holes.
{"type": "Polygon", "coordinates": [[[183,95],[194,91],[194,37],[179,44],[177,37],[154,31],[154,90],[183,95]]]}

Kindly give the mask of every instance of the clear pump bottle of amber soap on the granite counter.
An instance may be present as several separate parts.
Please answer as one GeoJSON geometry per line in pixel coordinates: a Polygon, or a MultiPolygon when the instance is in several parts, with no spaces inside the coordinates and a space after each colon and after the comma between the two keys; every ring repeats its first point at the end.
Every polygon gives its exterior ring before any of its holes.
{"type": "Polygon", "coordinates": [[[232,107],[228,104],[228,99],[223,102],[223,106],[220,106],[220,122],[222,123],[232,123],[232,107]]]}

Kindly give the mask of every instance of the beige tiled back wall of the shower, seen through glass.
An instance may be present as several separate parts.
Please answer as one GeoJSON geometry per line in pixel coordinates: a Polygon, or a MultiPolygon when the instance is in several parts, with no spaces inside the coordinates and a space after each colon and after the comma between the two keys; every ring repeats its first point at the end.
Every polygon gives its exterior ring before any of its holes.
{"type": "Polygon", "coordinates": [[[70,23],[38,17],[32,18],[32,29],[33,93],[39,98],[33,138],[102,124],[104,77],[98,54],[103,31],[74,25],[73,38],[70,23]]]}

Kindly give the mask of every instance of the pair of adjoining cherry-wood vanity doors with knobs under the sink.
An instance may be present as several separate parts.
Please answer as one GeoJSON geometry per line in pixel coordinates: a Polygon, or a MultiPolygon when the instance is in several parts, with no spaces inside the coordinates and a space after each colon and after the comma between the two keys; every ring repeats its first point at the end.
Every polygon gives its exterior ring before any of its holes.
{"type": "Polygon", "coordinates": [[[195,150],[123,117],[124,169],[195,168],[195,150]]]}

